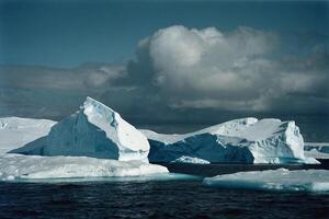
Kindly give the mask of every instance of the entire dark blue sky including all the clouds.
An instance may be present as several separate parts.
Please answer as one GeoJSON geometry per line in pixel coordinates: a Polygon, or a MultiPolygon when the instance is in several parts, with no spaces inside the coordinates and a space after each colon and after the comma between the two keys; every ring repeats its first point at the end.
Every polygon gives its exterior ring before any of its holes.
{"type": "Polygon", "coordinates": [[[0,0],[0,116],[92,96],[138,127],[246,116],[329,140],[328,1],[0,0]]]}

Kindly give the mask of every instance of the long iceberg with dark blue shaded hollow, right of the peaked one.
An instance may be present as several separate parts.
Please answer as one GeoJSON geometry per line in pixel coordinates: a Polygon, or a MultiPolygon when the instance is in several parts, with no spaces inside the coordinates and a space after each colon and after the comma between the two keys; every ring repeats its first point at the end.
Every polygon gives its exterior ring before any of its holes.
{"type": "Polygon", "coordinates": [[[304,140],[294,122],[241,118],[185,135],[141,130],[150,142],[150,162],[182,155],[226,163],[318,163],[304,155],[304,140]]]}

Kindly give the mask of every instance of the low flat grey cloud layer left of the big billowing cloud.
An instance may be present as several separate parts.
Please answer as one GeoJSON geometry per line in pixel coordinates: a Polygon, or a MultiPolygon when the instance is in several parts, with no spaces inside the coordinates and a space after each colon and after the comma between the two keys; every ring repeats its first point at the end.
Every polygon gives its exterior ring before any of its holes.
{"type": "Polygon", "coordinates": [[[84,64],[63,69],[42,66],[0,67],[0,116],[58,119],[77,110],[87,95],[131,88],[116,83],[125,65],[84,64]]]}

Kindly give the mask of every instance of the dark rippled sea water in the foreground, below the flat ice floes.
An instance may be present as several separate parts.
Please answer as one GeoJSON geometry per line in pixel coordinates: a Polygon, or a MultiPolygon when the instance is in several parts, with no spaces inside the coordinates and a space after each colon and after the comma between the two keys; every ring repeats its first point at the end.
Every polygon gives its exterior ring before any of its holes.
{"type": "Polygon", "coordinates": [[[329,218],[329,195],[201,181],[0,183],[0,218],[329,218]]]}

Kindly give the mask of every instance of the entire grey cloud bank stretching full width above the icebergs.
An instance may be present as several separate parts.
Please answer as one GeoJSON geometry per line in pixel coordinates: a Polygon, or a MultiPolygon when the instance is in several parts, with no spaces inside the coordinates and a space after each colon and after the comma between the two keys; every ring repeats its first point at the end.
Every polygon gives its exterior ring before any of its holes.
{"type": "Polygon", "coordinates": [[[86,95],[137,123],[327,115],[328,45],[316,42],[303,53],[286,53],[285,43],[279,33],[247,26],[224,32],[177,25],[141,39],[136,56],[123,64],[2,66],[0,116],[58,119],[86,95]]]}

